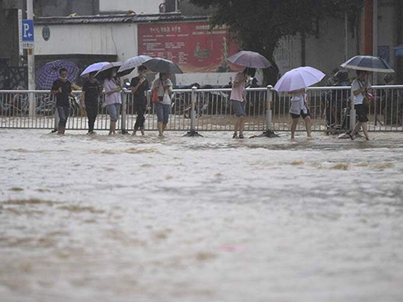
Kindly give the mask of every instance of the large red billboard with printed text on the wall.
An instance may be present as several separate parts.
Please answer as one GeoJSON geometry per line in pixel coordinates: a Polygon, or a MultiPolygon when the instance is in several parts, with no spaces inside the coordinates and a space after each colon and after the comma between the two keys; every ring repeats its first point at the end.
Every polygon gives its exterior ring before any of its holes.
{"type": "Polygon", "coordinates": [[[183,72],[229,71],[227,58],[238,51],[228,27],[207,21],[139,24],[138,35],[139,54],[172,60],[183,72]]]}

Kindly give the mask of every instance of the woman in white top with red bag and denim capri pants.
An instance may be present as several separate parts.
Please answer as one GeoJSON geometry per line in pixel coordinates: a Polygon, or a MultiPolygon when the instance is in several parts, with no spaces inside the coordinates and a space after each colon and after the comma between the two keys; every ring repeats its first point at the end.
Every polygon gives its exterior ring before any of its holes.
{"type": "Polygon", "coordinates": [[[151,86],[153,95],[158,96],[158,102],[155,103],[154,108],[157,113],[157,126],[160,137],[164,136],[169,113],[171,112],[172,82],[168,79],[168,75],[168,73],[160,72],[159,78],[155,79],[151,86]]]}

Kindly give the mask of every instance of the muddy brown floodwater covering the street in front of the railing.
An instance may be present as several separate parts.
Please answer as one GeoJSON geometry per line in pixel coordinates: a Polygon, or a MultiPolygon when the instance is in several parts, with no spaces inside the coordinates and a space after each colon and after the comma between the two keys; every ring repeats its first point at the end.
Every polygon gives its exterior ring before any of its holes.
{"type": "Polygon", "coordinates": [[[2,302],[403,300],[403,133],[46,131],[0,129],[2,302]]]}

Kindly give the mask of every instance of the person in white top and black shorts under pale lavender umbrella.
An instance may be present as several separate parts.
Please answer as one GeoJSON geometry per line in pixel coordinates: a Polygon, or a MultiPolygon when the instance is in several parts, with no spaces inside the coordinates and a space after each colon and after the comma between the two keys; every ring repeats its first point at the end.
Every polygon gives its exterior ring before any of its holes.
{"type": "Polygon", "coordinates": [[[290,115],[293,119],[291,123],[291,139],[294,139],[295,130],[297,129],[299,117],[305,121],[305,129],[308,137],[311,137],[311,115],[308,109],[308,96],[306,94],[306,89],[299,89],[291,91],[291,107],[290,115]]]}

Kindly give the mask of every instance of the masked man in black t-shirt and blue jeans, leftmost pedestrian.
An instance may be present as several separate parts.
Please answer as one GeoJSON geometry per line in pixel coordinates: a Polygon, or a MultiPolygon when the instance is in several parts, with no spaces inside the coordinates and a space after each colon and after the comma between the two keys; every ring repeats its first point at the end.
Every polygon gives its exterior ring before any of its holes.
{"type": "Polygon", "coordinates": [[[72,84],[67,80],[67,69],[60,68],[60,78],[53,82],[51,93],[56,96],[56,108],[59,115],[57,134],[64,134],[66,122],[70,115],[69,96],[72,94],[72,84]]]}

